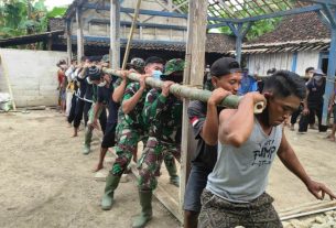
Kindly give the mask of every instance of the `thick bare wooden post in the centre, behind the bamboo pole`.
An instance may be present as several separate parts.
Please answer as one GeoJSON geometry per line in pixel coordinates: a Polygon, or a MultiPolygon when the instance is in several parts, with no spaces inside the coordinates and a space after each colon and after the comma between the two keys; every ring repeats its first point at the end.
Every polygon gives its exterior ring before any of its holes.
{"type": "MultiPolygon", "coordinates": [[[[184,85],[200,86],[204,77],[205,42],[207,24],[208,1],[188,2],[188,25],[187,45],[184,69],[184,85]],[[197,34],[197,35],[195,35],[197,34]]],[[[189,174],[191,155],[195,151],[195,140],[187,118],[187,107],[189,100],[183,102],[183,123],[182,123],[182,158],[181,158],[181,187],[180,187],[180,209],[183,214],[184,193],[189,174]]]]}

